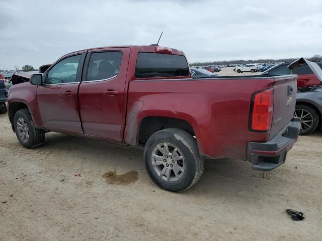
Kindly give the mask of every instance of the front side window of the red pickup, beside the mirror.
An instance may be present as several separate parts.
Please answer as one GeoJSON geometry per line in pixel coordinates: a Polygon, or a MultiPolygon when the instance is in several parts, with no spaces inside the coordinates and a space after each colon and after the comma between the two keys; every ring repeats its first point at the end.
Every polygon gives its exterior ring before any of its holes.
{"type": "Polygon", "coordinates": [[[52,67],[48,72],[46,84],[74,83],[81,55],[67,57],[52,67]]]}

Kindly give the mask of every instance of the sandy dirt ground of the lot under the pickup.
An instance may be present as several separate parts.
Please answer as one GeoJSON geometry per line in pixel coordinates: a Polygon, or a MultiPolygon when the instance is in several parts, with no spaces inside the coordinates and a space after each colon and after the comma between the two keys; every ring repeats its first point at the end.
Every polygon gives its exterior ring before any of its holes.
{"type": "Polygon", "coordinates": [[[206,160],[196,185],[171,193],[149,179],[140,149],[49,133],[28,150],[0,115],[4,241],[321,240],[321,184],[322,132],[299,137],[266,178],[245,161],[206,160]]]}

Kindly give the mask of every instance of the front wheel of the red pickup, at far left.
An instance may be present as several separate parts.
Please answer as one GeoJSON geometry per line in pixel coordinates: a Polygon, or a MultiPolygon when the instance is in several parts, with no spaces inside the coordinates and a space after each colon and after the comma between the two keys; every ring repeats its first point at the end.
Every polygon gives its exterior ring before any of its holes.
{"type": "Polygon", "coordinates": [[[23,147],[31,149],[44,144],[45,132],[36,129],[28,109],[20,109],[16,112],[14,128],[18,141],[23,147]],[[23,136],[23,132],[25,132],[25,136],[23,136]]]}

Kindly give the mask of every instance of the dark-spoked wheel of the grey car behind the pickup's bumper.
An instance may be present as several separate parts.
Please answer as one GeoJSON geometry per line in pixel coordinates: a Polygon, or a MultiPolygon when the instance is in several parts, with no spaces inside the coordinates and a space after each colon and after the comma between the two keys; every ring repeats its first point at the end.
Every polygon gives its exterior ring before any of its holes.
{"type": "Polygon", "coordinates": [[[314,108],[306,104],[297,104],[294,116],[301,119],[300,135],[308,135],[315,131],[319,124],[319,116],[314,108]]]}

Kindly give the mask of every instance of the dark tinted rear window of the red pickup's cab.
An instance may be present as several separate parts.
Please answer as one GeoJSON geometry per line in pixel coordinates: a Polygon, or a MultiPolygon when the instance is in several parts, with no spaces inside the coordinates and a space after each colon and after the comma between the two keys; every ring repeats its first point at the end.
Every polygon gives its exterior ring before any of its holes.
{"type": "Polygon", "coordinates": [[[173,54],[138,53],[135,77],[188,76],[189,66],[185,56],[173,54]]]}

